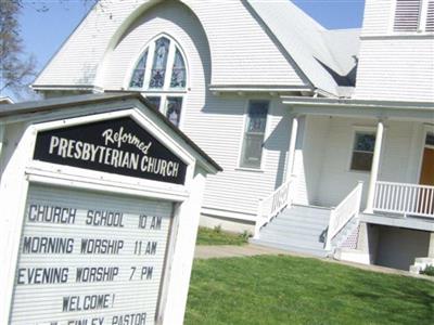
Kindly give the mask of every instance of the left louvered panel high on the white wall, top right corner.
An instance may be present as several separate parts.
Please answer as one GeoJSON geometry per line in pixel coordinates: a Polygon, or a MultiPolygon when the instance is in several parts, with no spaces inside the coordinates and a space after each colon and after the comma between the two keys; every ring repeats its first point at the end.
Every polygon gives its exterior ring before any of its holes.
{"type": "Polygon", "coordinates": [[[395,31],[417,31],[421,12],[421,0],[396,0],[395,31]]]}

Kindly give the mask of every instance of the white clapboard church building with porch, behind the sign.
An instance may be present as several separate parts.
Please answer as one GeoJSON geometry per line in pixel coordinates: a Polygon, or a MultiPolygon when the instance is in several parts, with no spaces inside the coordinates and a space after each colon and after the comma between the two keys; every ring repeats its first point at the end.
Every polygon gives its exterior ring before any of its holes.
{"type": "Polygon", "coordinates": [[[340,30],[289,0],[103,0],[33,89],[155,104],[224,168],[203,225],[362,263],[434,262],[433,0],[366,0],[362,28],[340,30]]]}

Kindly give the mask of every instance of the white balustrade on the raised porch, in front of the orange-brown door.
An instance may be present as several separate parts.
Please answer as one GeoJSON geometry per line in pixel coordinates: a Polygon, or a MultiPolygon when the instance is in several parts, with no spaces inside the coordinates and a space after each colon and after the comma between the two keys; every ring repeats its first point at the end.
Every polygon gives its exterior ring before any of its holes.
{"type": "Polygon", "coordinates": [[[434,218],[434,186],[376,182],[373,210],[434,218]]]}

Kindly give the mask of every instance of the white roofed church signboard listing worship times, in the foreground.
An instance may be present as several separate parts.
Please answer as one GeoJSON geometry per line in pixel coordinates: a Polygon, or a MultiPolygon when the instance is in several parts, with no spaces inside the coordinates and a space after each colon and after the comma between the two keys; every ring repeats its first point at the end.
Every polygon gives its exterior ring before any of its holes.
{"type": "Polygon", "coordinates": [[[18,145],[0,156],[1,324],[182,323],[205,176],[219,167],[128,100],[5,126],[18,145]]]}

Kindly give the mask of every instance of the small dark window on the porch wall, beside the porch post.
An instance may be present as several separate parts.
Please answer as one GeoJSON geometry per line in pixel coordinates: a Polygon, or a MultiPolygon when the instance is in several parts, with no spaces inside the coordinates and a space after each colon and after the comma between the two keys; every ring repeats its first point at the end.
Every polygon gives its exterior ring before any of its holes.
{"type": "Polygon", "coordinates": [[[357,131],[354,139],[352,170],[370,171],[372,167],[375,134],[357,131]]]}

